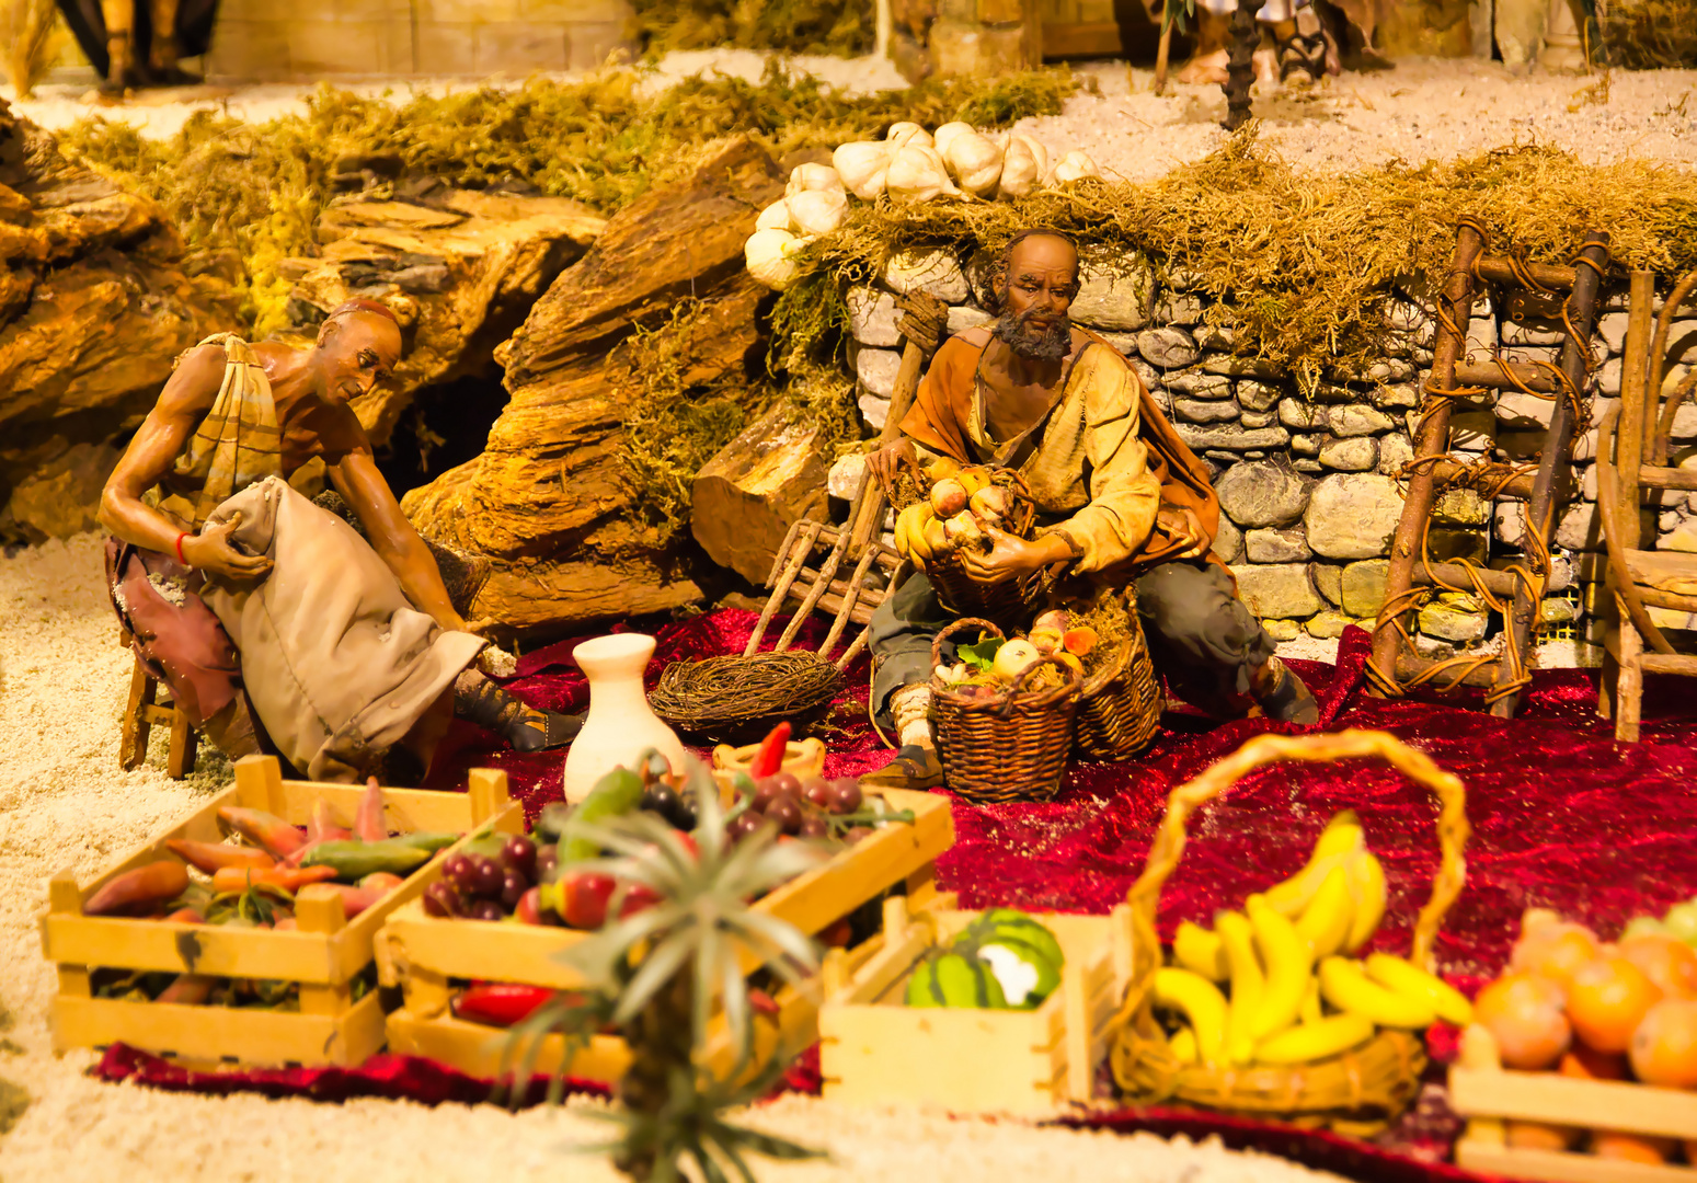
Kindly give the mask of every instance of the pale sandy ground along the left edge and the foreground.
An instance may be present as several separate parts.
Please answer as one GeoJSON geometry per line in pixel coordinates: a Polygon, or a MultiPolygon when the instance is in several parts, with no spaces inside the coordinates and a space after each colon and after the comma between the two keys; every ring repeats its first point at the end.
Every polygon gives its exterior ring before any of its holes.
{"type": "MultiPolygon", "coordinates": [[[[100,1085],[81,1073],[92,1052],[49,1051],[54,990],[34,917],[46,879],[64,866],[88,874],[165,828],[229,779],[216,754],[187,782],[163,772],[163,745],[136,772],[117,771],[117,718],[131,662],[115,643],[102,587],[100,541],[85,535],[0,558],[0,1001],[24,1051],[0,1054],[0,1076],[34,1105],[0,1139],[5,1183],[81,1180],[312,1180],[314,1183],[577,1183],[616,1180],[599,1156],[574,1149],[608,1127],[585,1105],[509,1115],[489,1105],[361,1100],[316,1105],[260,1096],[209,1098],[100,1085]],[[492,1154],[494,1151],[494,1154],[492,1154]]],[[[765,1166],[777,1183],[1298,1183],[1336,1176],[1217,1144],[1035,1130],[1020,1122],[952,1120],[918,1112],[854,1112],[809,1098],[759,1110],[774,1134],[828,1147],[833,1161],[765,1166]]]]}

